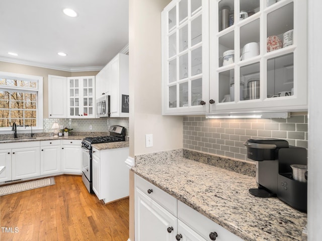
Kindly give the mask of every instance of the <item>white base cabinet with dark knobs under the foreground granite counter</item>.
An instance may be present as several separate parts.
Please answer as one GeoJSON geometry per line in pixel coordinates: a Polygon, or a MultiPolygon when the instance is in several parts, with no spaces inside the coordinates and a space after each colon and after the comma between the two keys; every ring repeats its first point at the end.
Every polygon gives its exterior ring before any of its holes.
{"type": "Polygon", "coordinates": [[[242,240],[135,174],[135,240],[242,240]]]}

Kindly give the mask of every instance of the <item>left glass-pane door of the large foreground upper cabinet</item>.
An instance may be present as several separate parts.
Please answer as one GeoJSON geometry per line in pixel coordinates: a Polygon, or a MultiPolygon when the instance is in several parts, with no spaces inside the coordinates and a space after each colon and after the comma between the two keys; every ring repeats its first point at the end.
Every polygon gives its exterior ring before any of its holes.
{"type": "Polygon", "coordinates": [[[164,114],[208,111],[208,4],[178,0],[162,13],[164,114]]]}

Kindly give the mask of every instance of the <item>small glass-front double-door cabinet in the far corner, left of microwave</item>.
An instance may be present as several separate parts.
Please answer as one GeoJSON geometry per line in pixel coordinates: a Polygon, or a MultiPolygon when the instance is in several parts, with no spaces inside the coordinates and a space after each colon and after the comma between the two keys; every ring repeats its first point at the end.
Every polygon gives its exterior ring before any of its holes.
{"type": "Polygon", "coordinates": [[[95,117],[95,76],[69,77],[68,117],[95,117]]]}

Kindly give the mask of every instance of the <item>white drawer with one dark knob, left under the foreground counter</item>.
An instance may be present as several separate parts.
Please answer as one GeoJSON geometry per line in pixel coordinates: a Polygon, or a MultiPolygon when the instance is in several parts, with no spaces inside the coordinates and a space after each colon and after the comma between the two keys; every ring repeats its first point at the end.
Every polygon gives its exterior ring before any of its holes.
{"type": "Polygon", "coordinates": [[[175,197],[138,175],[135,175],[135,186],[159,205],[166,208],[170,213],[177,216],[177,199],[175,197]]]}

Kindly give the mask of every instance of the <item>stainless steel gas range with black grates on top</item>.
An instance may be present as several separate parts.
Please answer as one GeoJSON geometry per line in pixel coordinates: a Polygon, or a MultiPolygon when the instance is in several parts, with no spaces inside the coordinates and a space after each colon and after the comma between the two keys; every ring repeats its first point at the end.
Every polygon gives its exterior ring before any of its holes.
{"type": "Polygon", "coordinates": [[[111,126],[109,129],[110,136],[105,137],[86,137],[82,142],[83,164],[82,179],[90,193],[93,193],[93,174],[92,174],[92,145],[99,143],[124,142],[125,128],[121,126],[111,126]]]}

